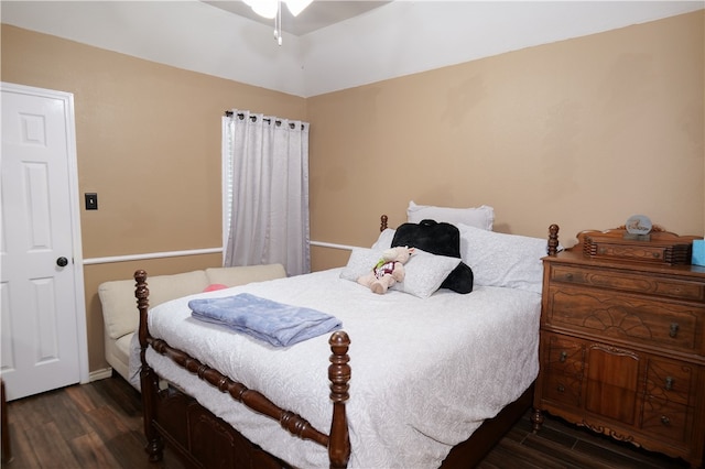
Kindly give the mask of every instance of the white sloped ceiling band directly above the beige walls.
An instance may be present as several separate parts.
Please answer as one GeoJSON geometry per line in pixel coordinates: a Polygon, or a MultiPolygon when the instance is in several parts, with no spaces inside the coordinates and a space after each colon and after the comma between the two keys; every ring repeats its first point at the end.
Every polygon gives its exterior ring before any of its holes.
{"type": "MultiPolygon", "coordinates": [[[[318,1],[310,8],[348,3],[318,1]]],[[[284,33],[281,46],[273,24],[199,0],[1,0],[0,15],[19,28],[311,97],[704,7],[702,0],[395,0],[301,36],[284,33]]]]}

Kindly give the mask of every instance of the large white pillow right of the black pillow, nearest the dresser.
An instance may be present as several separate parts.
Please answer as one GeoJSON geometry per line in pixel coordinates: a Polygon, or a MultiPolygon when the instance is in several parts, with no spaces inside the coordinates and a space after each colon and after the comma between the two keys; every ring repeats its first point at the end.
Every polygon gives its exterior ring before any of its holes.
{"type": "Polygon", "coordinates": [[[460,257],[473,269],[475,285],[541,293],[547,239],[506,234],[458,225],[460,257]]]}

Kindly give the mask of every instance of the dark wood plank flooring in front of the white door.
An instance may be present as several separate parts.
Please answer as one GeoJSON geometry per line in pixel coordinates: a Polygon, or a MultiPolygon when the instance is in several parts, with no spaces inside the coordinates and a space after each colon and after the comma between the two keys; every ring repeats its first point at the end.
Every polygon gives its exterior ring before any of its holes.
{"type": "Polygon", "coordinates": [[[169,450],[149,462],[141,407],[120,377],[9,402],[12,460],[2,468],[183,469],[169,450]]]}

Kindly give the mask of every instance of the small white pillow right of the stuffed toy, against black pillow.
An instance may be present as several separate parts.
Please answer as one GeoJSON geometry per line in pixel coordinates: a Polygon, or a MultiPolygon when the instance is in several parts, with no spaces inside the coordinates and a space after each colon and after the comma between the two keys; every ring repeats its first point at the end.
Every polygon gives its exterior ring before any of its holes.
{"type": "Polygon", "coordinates": [[[459,258],[434,255],[416,248],[404,264],[404,281],[393,284],[392,290],[427,298],[459,263],[459,258]]]}

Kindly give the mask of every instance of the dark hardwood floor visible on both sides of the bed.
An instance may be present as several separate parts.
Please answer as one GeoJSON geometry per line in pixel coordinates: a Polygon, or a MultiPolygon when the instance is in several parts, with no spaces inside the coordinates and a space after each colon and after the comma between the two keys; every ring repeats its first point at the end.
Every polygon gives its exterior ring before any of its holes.
{"type": "MultiPolygon", "coordinates": [[[[143,450],[140,395],[119,377],[8,403],[12,460],[7,469],[183,469],[175,455],[150,463],[143,450]]],[[[682,469],[680,460],[547,417],[539,434],[527,413],[480,469],[682,469]]]]}

